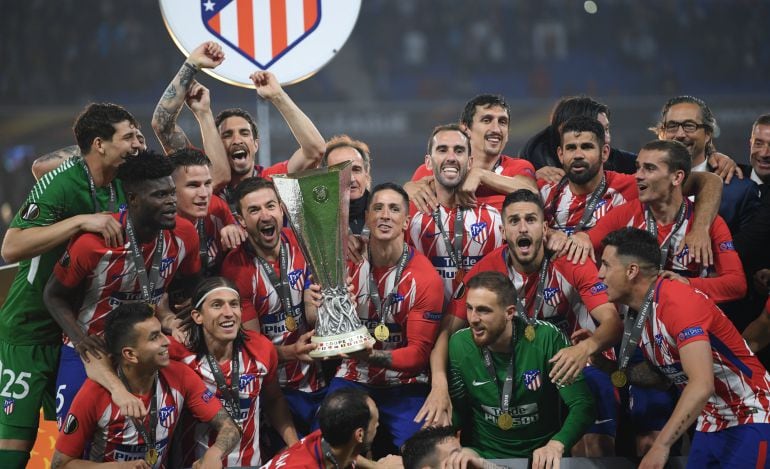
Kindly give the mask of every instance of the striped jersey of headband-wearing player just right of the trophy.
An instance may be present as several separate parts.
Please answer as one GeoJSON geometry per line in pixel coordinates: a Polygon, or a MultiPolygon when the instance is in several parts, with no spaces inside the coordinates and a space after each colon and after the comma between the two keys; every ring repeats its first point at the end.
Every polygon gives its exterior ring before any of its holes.
{"type": "MultiPolygon", "coordinates": [[[[414,248],[409,248],[409,260],[398,283],[396,303],[385,313],[385,325],[390,336],[384,342],[377,341],[375,350],[391,350],[390,369],[370,365],[365,361],[344,359],[337,370],[338,378],[380,386],[394,386],[428,382],[428,361],[438,335],[444,302],[441,279],[430,261],[414,248]]],[[[356,305],[361,323],[374,334],[380,316],[369,294],[369,270],[367,259],[359,264],[349,264],[353,278],[356,305]]],[[[393,291],[397,266],[374,269],[374,281],[380,298],[385,301],[393,291]]]]}

